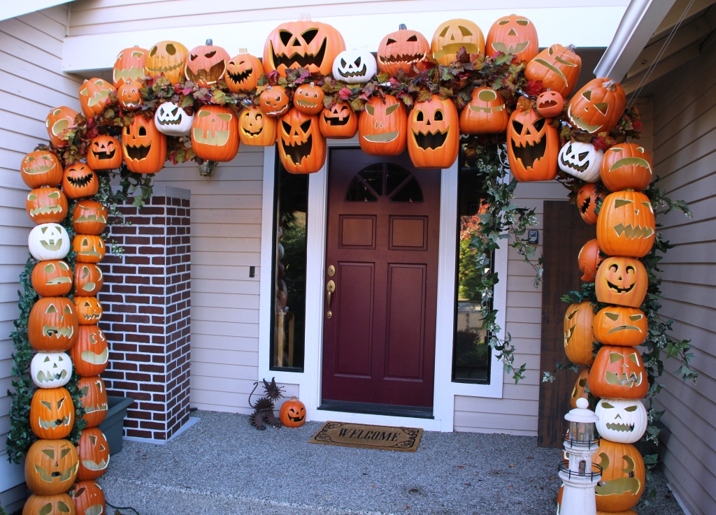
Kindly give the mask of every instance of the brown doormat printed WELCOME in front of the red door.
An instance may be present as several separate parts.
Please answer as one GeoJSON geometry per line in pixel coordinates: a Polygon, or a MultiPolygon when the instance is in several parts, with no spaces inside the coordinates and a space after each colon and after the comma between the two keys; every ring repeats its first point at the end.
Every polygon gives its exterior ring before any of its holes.
{"type": "Polygon", "coordinates": [[[421,436],[422,429],[416,428],[326,422],[318,433],[311,436],[309,442],[415,452],[421,436]]]}

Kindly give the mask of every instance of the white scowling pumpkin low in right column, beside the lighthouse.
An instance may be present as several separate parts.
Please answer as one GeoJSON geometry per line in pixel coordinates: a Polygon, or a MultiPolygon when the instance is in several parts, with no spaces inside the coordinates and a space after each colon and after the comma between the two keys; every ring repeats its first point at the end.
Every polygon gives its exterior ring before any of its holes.
{"type": "Polygon", "coordinates": [[[618,443],[634,443],[647,431],[647,408],[639,399],[601,398],[594,410],[599,436],[618,443]]]}

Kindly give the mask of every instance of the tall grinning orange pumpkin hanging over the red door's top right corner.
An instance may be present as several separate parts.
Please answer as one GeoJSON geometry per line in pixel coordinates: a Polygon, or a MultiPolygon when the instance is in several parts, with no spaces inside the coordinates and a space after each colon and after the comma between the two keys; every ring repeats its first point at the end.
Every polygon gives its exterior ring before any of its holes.
{"type": "Polygon", "coordinates": [[[417,168],[450,168],[460,152],[458,109],[436,94],[410,113],[407,149],[417,168]]]}

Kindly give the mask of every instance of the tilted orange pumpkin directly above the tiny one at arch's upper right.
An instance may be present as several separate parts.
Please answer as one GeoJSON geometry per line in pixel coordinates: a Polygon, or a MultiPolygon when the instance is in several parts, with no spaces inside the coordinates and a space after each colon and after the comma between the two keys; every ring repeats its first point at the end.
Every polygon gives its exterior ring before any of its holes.
{"type": "Polygon", "coordinates": [[[528,80],[542,81],[543,89],[551,89],[562,97],[569,97],[581,72],[581,57],[574,46],[553,44],[541,51],[525,67],[528,80]]]}

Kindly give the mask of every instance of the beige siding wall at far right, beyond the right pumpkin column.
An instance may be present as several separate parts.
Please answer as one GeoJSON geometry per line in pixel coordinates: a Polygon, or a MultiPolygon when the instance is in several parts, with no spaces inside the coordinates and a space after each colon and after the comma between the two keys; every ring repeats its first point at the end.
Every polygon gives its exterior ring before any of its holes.
{"type": "Polygon", "coordinates": [[[669,481],[692,514],[716,513],[716,44],[658,84],[653,97],[654,165],[669,197],[689,202],[694,217],[659,217],[676,247],[661,266],[664,317],[674,335],[691,338],[696,384],[667,362],[658,408],[668,428],[663,458],[669,481]]]}

